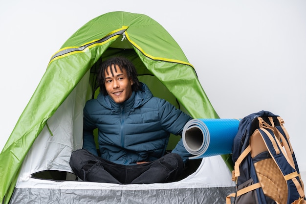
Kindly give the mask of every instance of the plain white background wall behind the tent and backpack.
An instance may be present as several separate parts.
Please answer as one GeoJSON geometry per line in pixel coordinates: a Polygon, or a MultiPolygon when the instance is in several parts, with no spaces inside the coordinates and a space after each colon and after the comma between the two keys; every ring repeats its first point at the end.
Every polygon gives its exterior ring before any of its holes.
{"type": "Polygon", "coordinates": [[[160,23],[221,118],[261,110],[282,116],[306,171],[305,0],[0,0],[0,150],[50,57],[77,29],[111,11],[160,23]]]}

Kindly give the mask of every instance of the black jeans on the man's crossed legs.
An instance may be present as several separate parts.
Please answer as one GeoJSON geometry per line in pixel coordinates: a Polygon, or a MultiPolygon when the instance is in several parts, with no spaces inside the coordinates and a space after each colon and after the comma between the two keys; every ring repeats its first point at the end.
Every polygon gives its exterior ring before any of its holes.
{"type": "Polygon", "coordinates": [[[144,164],[122,165],[95,156],[85,149],[72,153],[70,166],[83,181],[119,184],[172,182],[184,170],[182,158],[175,153],[144,164]]]}

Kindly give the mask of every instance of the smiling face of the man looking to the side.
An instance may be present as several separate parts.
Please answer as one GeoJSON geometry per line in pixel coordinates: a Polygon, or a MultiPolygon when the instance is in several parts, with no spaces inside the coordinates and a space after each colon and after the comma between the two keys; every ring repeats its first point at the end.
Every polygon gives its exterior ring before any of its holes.
{"type": "Polygon", "coordinates": [[[127,71],[125,68],[122,68],[122,71],[115,65],[117,72],[115,71],[114,65],[112,65],[112,73],[110,71],[110,67],[107,68],[105,71],[105,88],[108,92],[109,96],[116,102],[116,103],[123,103],[127,99],[131,97],[132,94],[132,80],[129,79],[127,75],[127,71]]]}

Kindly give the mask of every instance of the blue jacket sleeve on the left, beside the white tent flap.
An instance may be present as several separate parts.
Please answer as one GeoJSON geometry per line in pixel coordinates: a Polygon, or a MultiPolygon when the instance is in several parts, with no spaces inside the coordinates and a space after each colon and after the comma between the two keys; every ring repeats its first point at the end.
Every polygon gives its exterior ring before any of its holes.
{"type": "Polygon", "coordinates": [[[96,144],[94,141],[93,130],[96,128],[93,121],[91,120],[87,107],[84,108],[83,118],[83,149],[87,149],[90,153],[98,156],[96,144]]]}

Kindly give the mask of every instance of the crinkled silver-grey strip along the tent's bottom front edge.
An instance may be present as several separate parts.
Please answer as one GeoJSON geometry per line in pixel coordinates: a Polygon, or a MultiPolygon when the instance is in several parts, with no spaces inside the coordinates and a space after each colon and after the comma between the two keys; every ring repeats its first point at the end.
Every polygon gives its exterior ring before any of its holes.
{"type": "Polygon", "coordinates": [[[65,204],[221,204],[232,192],[235,192],[235,187],[143,190],[16,188],[11,203],[35,204],[40,198],[39,202],[44,204],[50,200],[65,204]]]}

